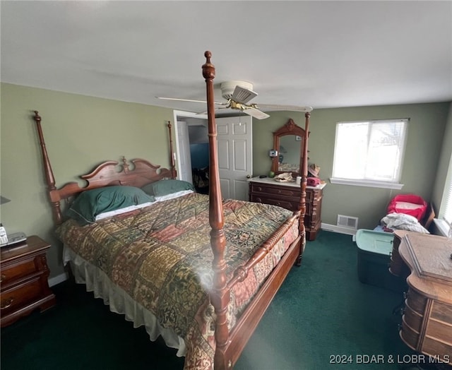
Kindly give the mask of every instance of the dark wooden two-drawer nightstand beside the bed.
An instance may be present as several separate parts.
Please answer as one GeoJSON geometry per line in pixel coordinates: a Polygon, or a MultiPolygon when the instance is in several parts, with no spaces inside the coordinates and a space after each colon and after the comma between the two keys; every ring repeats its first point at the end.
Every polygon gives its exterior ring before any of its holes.
{"type": "Polygon", "coordinates": [[[56,299],[49,288],[46,253],[50,244],[40,237],[0,249],[1,327],[7,326],[35,309],[44,311],[56,299]]]}

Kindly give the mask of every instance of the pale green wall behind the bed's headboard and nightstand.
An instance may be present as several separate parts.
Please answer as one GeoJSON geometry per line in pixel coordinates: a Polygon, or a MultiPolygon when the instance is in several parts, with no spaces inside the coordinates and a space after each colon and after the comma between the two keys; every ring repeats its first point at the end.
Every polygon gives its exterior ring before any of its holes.
{"type": "Polygon", "coordinates": [[[33,110],[42,117],[57,187],[122,156],[169,167],[166,124],[173,114],[172,109],[150,105],[1,84],[0,192],[11,202],[1,205],[0,220],[8,233],[37,234],[52,244],[47,262],[54,277],[64,272],[62,250],[52,232],[33,110]]]}

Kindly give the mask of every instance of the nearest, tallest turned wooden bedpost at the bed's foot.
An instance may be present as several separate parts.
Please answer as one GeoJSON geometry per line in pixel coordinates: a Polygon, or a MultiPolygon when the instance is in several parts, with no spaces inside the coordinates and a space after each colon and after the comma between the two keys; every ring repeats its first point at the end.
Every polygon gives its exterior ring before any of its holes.
{"type": "Polygon", "coordinates": [[[225,223],[218,173],[217,126],[215,124],[215,105],[213,95],[213,78],[215,66],[210,63],[212,53],[205,52],[206,64],[203,64],[203,77],[206,79],[208,138],[209,138],[209,223],[210,246],[213,251],[213,287],[210,291],[210,301],[217,316],[215,323],[215,359],[214,369],[226,369],[232,364],[226,364],[225,349],[229,341],[227,330],[227,305],[230,301],[230,291],[227,289],[225,247],[226,237],[222,227],[225,223]]]}

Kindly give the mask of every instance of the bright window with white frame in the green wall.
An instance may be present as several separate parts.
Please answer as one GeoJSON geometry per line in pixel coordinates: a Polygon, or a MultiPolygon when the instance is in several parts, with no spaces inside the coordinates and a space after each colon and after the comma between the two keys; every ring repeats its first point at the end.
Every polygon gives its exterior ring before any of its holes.
{"type": "Polygon", "coordinates": [[[333,184],[401,189],[408,119],[338,122],[333,184]]]}

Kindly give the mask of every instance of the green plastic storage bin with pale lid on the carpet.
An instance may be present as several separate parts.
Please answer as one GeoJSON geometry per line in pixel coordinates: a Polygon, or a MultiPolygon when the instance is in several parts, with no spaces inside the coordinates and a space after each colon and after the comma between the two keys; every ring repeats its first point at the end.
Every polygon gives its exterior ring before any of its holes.
{"type": "Polygon", "coordinates": [[[364,284],[394,292],[406,290],[406,282],[389,272],[394,236],[391,232],[359,229],[356,233],[358,277],[364,284]]]}

